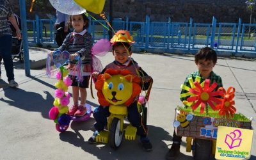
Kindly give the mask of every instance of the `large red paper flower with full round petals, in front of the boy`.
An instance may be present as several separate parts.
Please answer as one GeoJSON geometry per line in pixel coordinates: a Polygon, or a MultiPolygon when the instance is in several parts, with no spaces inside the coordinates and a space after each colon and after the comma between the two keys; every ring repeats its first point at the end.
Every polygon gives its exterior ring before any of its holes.
{"type": "Polygon", "coordinates": [[[209,104],[209,106],[214,111],[217,110],[213,102],[215,102],[216,104],[220,104],[221,100],[216,98],[215,96],[221,96],[223,95],[223,92],[221,91],[212,92],[212,91],[216,88],[216,86],[218,86],[218,84],[214,82],[210,86],[209,79],[205,79],[204,88],[202,88],[202,86],[200,86],[200,84],[197,81],[195,81],[194,84],[195,84],[195,88],[189,89],[189,92],[195,95],[188,98],[188,102],[195,102],[195,104],[193,104],[191,108],[195,110],[200,106],[200,113],[204,113],[205,105],[209,104]]]}

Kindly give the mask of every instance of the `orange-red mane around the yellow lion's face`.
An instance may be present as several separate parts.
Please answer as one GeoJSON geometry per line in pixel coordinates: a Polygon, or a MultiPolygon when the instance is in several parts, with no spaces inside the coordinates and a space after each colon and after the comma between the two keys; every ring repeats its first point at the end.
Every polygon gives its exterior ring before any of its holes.
{"type": "Polygon", "coordinates": [[[102,88],[104,86],[104,82],[106,81],[106,79],[109,79],[111,76],[118,75],[118,74],[120,74],[122,76],[130,75],[129,77],[127,77],[128,78],[127,80],[132,82],[132,95],[126,102],[124,102],[125,106],[129,106],[132,102],[134,102],[134,99],[136,97],[138,97],[138,95],[140,95],[141,79],[139,76],[132,75],[132,73],[129,70],[115,70],[115,69],[109,68],[104,72],[104,74],[100,74],[97,77],[97,82],[95,83],[95,88],[98,91],[97,96],[99,99],[99,104],[101,106],[109,106],[111,104],[105,99],[105,97],[102,93],[102,88]]]}

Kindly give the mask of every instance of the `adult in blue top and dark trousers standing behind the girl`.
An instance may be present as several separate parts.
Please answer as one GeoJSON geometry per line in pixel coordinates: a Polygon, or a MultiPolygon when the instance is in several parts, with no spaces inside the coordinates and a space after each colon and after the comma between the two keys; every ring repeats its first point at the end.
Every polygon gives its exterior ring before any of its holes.
{"type": "Polygon", "coordinates": [[[63,44],[70,30],[68,29],[68,21],[70,20],[70,15],[66,15],[56,10],[56,22],[54,24],[55,32],[55,41],[60,47],[63,44]]]}

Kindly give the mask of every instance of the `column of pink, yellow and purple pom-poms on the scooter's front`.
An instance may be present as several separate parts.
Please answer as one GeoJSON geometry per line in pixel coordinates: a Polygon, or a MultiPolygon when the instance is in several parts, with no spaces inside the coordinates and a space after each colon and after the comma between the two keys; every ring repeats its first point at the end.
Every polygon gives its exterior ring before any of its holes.
{"type": "Polygon", "coordinates": [[[53,102],[53,107],[49,111],[49,117],[51,120],[54,120],[55,123],[60,125],[69,125],[71,117],[66,113],[68,112],[68,104],[70,99],[70,94],[67,92],[68,86],[72,84],[72,81],[68,75],[68,70],[63,66],[60,67],[60,70],[56,73],[56,79],[58,80],[55,83],[55,99],[53,102]]]}

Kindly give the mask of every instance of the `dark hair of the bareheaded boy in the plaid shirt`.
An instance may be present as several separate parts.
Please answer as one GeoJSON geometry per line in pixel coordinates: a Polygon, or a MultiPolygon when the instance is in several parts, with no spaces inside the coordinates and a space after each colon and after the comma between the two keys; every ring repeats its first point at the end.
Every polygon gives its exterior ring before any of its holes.
{"type": "Polygon", "coordinates": [[[217,63],[217,54],[214,51],[214,49],[210,47],[204,47],[200,49],[196,54],[195,54],[195,63],[198,63],[198,60],[212,60],[214,64],[217,63]]]}

